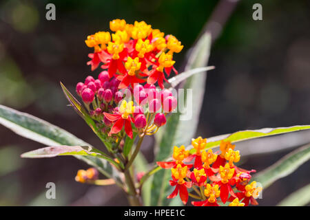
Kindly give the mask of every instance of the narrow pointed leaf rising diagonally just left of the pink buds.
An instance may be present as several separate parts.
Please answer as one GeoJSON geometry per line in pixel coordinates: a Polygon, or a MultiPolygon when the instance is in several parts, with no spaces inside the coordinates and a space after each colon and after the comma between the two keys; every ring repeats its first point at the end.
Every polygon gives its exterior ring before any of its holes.
{"type": "Polygon", "coordinates": [[[94,133],[100,138],[103,144],[105,144],[107,150],[111,151],[112,145],[110,144],[110,142],[107,141],[107,136],[104,133],[102,133],[101,130],[96,126],[96,123],[94,122],[94,120],[92,120],[92,118],[87,113],[85,108],[81,105],[81,103],[78,100],[76,100],[76,98],[74,98],[74,96],[70,93],[70,91],[63,85],[63,83],[61,83],[61,88],[63,89],[65,98],[68,99],[70,105],[73,107],[76,113],[78,113],[81,116],[81,118],[85,120],[85,122],[88,124],[88,126],[90,126],[92,131],[94,131],[94,133]]]}

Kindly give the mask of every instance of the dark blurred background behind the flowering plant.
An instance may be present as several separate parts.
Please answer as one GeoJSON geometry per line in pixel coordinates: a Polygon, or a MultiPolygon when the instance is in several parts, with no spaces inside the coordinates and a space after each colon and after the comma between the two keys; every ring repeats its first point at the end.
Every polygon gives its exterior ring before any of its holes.
{"type": "MultiPolygon", "coordinates": [[[[184,50],[176,55],[176,67],[181,69],[186,51],[218,2],[1,1],[0,103],[36,115],[96,146],[99,140],[66,106],[59,86],[62,81],[74,91],[75,84],[91,74],[86,65],[91,51],[84,43],[87,35],[108,30],[112,19],[121,18],[128,23],[144,20],[182,41],[184,50]],[[48,3],[56,5],[56,21],[45,19],[48,3]]],[[[209,65],[216,69],[207,77],[198,135],[211,137],[244,129],[310,124],[309,27],[307,0],[240,1],[211,50],[209,65]],[[252,19],[254,3],[262,4],[262,21],[252,19]]],[[[309,142],[309,136],[309,132],[302,132],[240,144],[245,149],[287,147],[245,157],[243,166],[263,170],[292,148],[309,142]]],[[[76,183],[76,170],[87,166],[73,157],[19,157],[41,147],[0,126],[0,206],[127,205],[116,186],[76,183]],[[45,199],[48,181],[56,183],[56,199],[45,199]]],[[[143,153],[152,162],[152,140],[143,146],[143,153]]],[[[265,190],[260,205],[274,206],[309,184],[309,165],[302,165],[265,190]]]]}

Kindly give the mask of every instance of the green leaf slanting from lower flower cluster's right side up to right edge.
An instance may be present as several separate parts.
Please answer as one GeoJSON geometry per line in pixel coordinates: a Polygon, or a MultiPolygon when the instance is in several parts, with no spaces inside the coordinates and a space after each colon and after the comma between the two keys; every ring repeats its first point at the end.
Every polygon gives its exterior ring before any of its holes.
{"type": "Polygon", "coordinates": [[[286,177],[295,171],[299,166],[310,159],[310,144],[292,151],[278,162],[262,170],[254,176],[254,180],[262,184],[263,189],[271,186],[275,181],[286,177]]]}

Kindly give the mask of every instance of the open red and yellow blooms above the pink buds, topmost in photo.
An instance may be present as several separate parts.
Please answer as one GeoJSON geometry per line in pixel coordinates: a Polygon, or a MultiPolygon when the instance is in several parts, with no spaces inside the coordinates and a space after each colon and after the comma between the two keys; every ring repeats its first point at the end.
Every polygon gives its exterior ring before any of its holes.
{"type": "Polygon", "coordinates": [[[171,34],[165,36],[145,21],[132,25],[115,19],[110,21],[110,30],[114,33],[96,32],[87,36],[87,47],[94,48],[94,53],[88,55],[92,60],[87,63],[92,71],[101,64],[109,78],[114,76],[121,81],[118,89],[145,82],[149,85],[158,82],[163,89],[165,74],[176,72],[173,55],[183,49],[180,41],[171,34]]]}

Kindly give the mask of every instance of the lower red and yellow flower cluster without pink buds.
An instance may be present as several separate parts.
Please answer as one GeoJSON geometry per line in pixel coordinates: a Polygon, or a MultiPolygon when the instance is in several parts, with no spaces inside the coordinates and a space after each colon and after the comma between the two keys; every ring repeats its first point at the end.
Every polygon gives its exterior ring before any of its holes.
{"type": "Polygon", "coordinates": [[[256,186],[256,181],[249,183],[250,173],[256,170],[245,170],[234,164],[240,160],[234,144],[222,140],[220,153],[213,153],[211,149],[205,150],[207,139],[198,137],[192,140],[192,146],[196,150],[192,155],[185,146],[174,146],[172,162],[157,162],[158,166],[172,171],[169,183],[175,188],[167,198],[180,195],[184,204],[189,196],[200,199],[192,201],[194,206],[220,206],[227,201],[229,206],[258,204],[256,198],[262,188],[256,186]]]}

